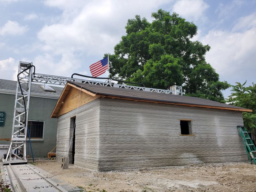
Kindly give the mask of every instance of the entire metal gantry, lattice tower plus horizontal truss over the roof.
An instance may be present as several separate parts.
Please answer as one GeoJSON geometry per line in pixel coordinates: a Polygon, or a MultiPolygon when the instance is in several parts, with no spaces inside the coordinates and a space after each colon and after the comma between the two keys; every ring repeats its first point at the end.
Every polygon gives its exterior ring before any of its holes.
{"type": "Polygon", "coordinates": [[[31,83],[39,84],[53,84],[53,85],[66,85],[68,81],[79,82],[84,84],[94,84],[108,87],[118,87],[124,89],[132,89],[137,91],[147,91],[147,92],[158,92],[166,94],[182,95],[181,86],[172,86],[170,90],[155,89],[148,87],[138,87],[132,85],[116,84],[111,82],[92,81],[85,79],[76,79],[62,76],[44,75],[39,73],[33,73],[32,68],[24,71],[28,65],[33,65],[33,63],[20,61],[18,76],[22,92],[20,90],[19,82],[17,81],[14,113],[13,113],[13,124],[12,124],[12,138],[11,143],[7,151],[7,156],[3,160],[4,164],[14,164],[14,163],[27,163],[26,159],[26,140],[27,140],[27,126],[28,126],[28,112],[29,112],[29,100],[31,92],[31,83]],[[24,100],[25,104],[24,104],[24,100]],[[26,107],[25,107],[26,106],[26,107]],[[26,111],[26,112],[25,112],[26,111]],[[26,117],[25,117],[26,114],[26,117]]]}

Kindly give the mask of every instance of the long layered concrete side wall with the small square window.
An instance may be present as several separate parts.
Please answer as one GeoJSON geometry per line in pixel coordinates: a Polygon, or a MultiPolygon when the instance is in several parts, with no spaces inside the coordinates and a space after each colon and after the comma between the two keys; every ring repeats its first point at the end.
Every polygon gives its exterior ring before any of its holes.
{"type": "Polygon", "coordinates": [[[100,98],[99,170],[248,161],[242,113],[100,98]],[[180,136],[180,118],[195,136],[180,136]]]}

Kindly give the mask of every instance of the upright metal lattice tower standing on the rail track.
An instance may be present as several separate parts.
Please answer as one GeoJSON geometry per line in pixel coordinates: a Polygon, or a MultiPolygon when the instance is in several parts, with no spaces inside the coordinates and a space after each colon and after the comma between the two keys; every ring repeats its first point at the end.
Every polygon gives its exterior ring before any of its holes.
{"type": "Polygon", "coordinates": [[[4,164],[27,163],[26,139],[30,89],[33,71],[32,68],[28,66],[31,65],[33,65],[33,63],[22,61],[19,63],[19,75],[12,122],[12,138],[8,148],[7,156],[3,160],[4,164]]]}

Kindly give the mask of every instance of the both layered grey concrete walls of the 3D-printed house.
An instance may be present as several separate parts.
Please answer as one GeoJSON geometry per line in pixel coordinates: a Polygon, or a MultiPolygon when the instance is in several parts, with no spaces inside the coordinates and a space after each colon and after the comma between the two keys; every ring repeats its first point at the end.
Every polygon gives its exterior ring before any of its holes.
{"type": "Polygon", "coordinates": [[[68,155],[72,153],[69,144],[73,116],[75,165],[87,169],[247,161],[236,128],[243,125],[242,112],[107,98],[59,117],[58,160],[67,155],[68,148],[68,155]],[[195,136],[180,136],[180,119],[192,120],[190,134],[195,136]]]}

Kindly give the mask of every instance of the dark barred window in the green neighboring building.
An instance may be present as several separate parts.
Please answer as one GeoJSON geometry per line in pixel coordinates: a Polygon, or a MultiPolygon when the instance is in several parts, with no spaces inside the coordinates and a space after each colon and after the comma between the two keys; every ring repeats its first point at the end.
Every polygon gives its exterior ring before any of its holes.
{"type": "Polygon", "coordinates": [[[28,121],[28,131],[31,139],[43,139],[44,121],[28,121]]]}

